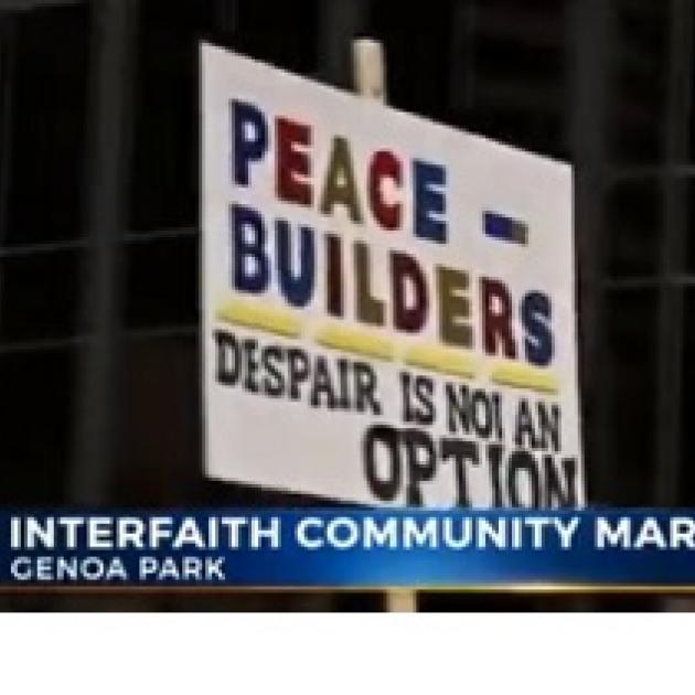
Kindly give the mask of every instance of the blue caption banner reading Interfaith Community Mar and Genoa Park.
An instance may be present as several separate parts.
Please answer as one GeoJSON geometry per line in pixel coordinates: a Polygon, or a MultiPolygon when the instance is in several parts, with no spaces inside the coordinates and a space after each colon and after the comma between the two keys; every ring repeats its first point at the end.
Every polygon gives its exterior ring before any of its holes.
{"type": "Polygon", "coordinates": [[[0,512],[3,588],[695,589],[695,511],[0,512]]]}

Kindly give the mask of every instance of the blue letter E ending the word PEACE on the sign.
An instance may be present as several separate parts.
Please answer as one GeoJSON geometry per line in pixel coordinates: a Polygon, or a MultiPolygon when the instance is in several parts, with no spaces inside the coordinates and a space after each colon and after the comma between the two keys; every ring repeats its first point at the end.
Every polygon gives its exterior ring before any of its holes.
{"type": "Polygon", "coordinates": [[[415,185],[415,236],[443,244],[447,240],[445,213],[447,202],[443,186],[447,171],[443,167],[416,159],[413,162],[415,185]]]}

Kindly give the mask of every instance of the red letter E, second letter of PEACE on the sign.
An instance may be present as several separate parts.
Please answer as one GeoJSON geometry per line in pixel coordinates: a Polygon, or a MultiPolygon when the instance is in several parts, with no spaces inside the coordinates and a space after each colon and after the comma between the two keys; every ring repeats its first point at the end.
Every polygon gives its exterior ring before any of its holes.
{"type": "Polygon", "coordinates": [[[277,162],[276,190],[278,197],[290,203],[311,205],[309,156],[311,129],[288,118],[276,120],[277,162]],[[298,147],[301,146],[301,147],[298,147]],[[301,177],[298,178],[298,177],[301,177]]]}

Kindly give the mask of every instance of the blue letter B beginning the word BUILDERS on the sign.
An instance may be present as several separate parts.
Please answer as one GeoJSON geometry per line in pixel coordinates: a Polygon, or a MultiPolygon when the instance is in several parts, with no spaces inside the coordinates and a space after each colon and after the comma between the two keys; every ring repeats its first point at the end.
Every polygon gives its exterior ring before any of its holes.
{"type": "Polygon", "coordinates": [[[232,205],[234,235],[234,287],[258,295],[268,287],[269,268],[265,254],[266,228],[260,215],[250,207],[232,205]]]}

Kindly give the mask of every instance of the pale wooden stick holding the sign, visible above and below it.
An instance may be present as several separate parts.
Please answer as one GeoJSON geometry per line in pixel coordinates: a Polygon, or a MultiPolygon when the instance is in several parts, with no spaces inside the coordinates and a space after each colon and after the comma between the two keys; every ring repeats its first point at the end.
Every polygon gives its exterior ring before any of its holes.
{"type": "MultiPolygon", "coordinates": [[[[384,49],[374,39],[355,39],[352,42],[353,86],[356,94],[367,99],[386,103],[386,61],[384,49]]],[[[415,591],[395,590],[386,592],[388,612],[415,612],[415,591]]]]}

